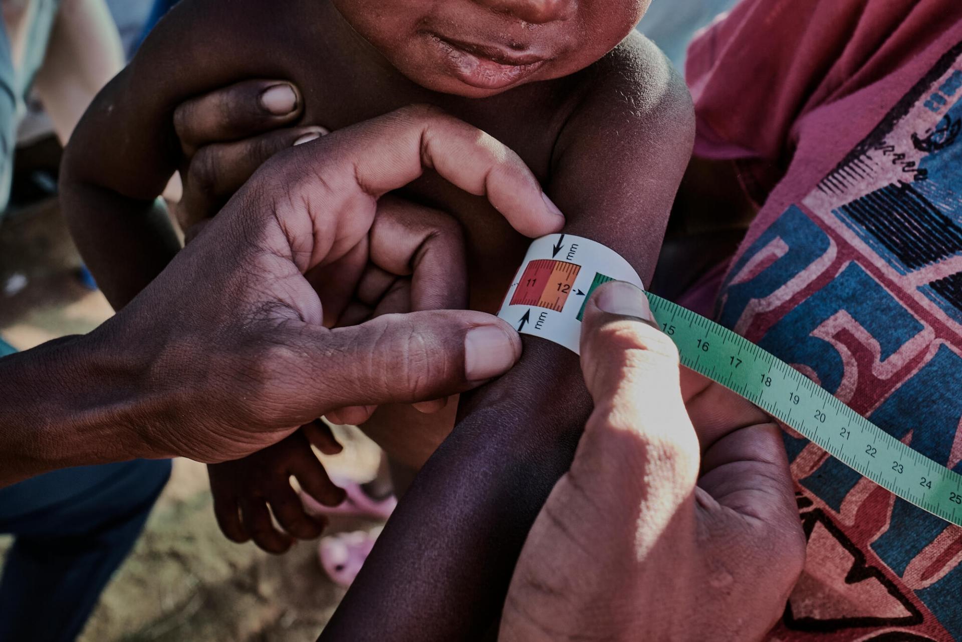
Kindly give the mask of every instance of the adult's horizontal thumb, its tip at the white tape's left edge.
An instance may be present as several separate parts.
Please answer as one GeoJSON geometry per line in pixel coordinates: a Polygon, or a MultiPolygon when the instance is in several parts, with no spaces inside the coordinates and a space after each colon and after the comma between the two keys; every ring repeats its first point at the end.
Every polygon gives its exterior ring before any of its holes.
{"type": "Polygon", "coordinates": [[[288,337],[300,382],[291,390],[319,417],[353,405],[412,403],[475,388],[518,361],[511,325],[481,312],[383,315],[347,327],[305,324],[288,337]]]}

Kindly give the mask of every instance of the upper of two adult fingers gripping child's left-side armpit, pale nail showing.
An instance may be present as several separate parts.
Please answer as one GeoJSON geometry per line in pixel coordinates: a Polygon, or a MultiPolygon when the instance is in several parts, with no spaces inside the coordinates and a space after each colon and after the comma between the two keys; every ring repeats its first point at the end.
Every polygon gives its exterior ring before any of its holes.
{"type": "Polygon", "coordinates": [[[174,129],[190,157],[211,142],[237,141],[290,124],[302,111],[293,84],[247,80],[182,103],[174,110],[174,129]]]}

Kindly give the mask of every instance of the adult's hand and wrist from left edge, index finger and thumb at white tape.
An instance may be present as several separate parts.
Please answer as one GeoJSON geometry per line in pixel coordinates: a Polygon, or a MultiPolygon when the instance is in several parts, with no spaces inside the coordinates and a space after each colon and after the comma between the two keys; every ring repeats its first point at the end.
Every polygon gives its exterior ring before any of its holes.
{"type": "Polygon", "coordinates": [[[113,319],[0,361],[0,484],[133,457],[236,459],[332,409],[440,398],[509,368],[519,339],[482,313],[321,323],[304,274],[366,247],[377,199],[423,167],[486,193],[524,233],[563,223],[516,154],[428,108],[280,154],[113,319]]]}

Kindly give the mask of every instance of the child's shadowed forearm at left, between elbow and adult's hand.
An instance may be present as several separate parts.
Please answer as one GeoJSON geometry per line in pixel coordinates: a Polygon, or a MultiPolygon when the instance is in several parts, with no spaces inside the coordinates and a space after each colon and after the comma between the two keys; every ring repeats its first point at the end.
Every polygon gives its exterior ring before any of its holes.
{"type": "Polygon", "coordinates": [[[84,261],[119,310],[143,290],[180,250],[164,205],[74,181],[61,187],[63,211],[84,261]]]}

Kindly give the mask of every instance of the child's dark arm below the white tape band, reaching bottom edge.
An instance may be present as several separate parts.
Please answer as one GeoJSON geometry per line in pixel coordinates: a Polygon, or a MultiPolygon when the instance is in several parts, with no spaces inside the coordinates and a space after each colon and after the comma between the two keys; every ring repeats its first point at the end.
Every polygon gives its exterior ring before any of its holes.
{"type": "Polygon", "coordinates": [[[492,626],[592,409],[577,355],[524,344],[518,367],[462,397],[321,640],[469,640],[492,626]]]}

